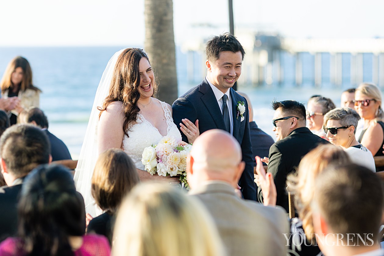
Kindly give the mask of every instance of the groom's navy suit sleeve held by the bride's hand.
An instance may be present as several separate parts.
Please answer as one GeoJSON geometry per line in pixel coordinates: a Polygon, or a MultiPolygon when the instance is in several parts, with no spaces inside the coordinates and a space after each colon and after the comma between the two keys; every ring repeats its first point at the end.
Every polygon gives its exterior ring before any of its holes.
{"type": "Polygon", "coordinates": [[[188,142],[187,136],[180,130],[181,119],[187,118],[189,121],[195,123],[197,119],[197,112],[195,106],[189,99],[180,97],[172,104],[172,117],[173,122],[176,124],[180,131],[182,140],[188,142]]]}

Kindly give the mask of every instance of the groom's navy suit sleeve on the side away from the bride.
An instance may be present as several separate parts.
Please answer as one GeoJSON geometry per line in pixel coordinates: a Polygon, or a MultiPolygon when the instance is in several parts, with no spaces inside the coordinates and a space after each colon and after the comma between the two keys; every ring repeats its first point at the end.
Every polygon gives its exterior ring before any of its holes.
{"type": "MultiPolygon", "coordinates": [[[[248,109],[248,107],[246,107],[248,109]]],[[[253,154],[252,154],[252,143],[249,132],[249,113],[246,111],[245,119],[245,130],[243,140],[241,143],[241,149],[243,154],[243,161],[245,162],[245,168],[242,176],[240,177],[239,186],[242,188],[244,199],[257,201],[256,184],[253,176],[253,154]]]]}

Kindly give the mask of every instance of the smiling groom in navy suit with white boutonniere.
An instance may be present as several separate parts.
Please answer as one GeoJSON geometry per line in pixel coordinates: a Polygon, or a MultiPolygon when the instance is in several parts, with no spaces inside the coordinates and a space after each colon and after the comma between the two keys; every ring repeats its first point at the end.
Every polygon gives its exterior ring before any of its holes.
{"type": "MultiPolygon", "coordinates": [[[[173,103],[173,120],[179,129],[182,119],[193,123],[199,119],[200,134],[222,129],[233,135],[241,145],[245,162],[238,185],[245,199],[256,200],[247,101],[232,89],[241,74],[245,51],[235,36],[225,33],[209,40],[205,53],[207,76],[173,103]]],[[[187,137],[181,134],[187,142],[187,137]]]]}

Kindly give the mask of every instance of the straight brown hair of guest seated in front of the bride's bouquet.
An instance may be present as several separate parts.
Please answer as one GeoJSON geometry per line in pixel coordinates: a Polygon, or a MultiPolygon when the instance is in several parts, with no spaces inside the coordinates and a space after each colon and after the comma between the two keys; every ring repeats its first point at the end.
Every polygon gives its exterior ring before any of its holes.
{"type": "Polygon", "coordinates": [[[107,149],[99,155],[92,176],[92,196],[102,209],[115,213],[122,198],[139,183],[131,158],[121,149],[107,149]]]}

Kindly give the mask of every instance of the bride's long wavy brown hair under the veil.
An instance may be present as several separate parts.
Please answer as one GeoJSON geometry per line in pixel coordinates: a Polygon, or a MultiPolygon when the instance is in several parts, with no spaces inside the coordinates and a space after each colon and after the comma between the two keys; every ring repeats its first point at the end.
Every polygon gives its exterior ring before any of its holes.
{"type": "MultiPolygon", "coordinates": [[[[140,86],[139,62],[141,58],[146,58],[149,62],[147,54],[142,49],[127,48],[122,51],[113,71],[108,96],[104,100],[103,107],[98,107],[100,119],[101,113],[107,109],[111,102],[121,101],[122,111],[126,116],[122,129],[127,136],[129,124],[136,121],[137,113],[140,111],[136,103],[140,98],[138,88],[140,86]]],[[[154,81],[152,97],[156,92],[157,84],[154,81]]]]}

